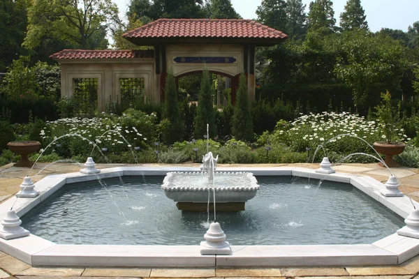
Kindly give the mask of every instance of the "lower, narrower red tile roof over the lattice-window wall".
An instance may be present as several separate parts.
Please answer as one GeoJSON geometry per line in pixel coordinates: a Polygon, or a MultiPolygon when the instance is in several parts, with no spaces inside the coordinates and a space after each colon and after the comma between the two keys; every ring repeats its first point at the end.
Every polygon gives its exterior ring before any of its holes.
{"type": "Polygon", "coordinates": [[[51,59],[154,58],[153,50],[61,50],[51,59]]]}

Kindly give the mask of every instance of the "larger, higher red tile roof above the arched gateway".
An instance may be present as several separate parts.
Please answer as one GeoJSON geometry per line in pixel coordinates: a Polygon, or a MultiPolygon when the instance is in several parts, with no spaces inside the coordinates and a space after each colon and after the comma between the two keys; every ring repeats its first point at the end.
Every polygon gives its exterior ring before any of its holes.
{"type": "Polygon", "coordinates": [[[124,33],[124,38],[288,38],[286,33],[253,20],[161,18],[124,33]]]}

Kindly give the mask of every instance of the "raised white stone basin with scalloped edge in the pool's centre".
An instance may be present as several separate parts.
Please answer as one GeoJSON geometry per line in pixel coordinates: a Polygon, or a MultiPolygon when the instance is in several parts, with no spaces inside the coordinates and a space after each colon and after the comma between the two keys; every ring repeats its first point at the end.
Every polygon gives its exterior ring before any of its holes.
{"type": "Polygon", "coordinates": [[[258,181],[251,172],[215,172],[214,184],[208,183],[207,174],[202,172],[168,172],[161,189],[175,202],[247,202],[256,196],[258,181]]]}

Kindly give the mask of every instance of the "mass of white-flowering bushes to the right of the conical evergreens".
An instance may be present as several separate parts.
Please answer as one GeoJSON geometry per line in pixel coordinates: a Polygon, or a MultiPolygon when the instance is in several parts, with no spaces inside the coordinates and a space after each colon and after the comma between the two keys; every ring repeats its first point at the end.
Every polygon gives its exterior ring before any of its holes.
{"type": "MultiPolygon", "coordinates": [[[[401,137],[406,137],[402,130],[398,132],[401,137]]],[[[314,151],[322,144],[328,153],[334,154],[335,159],[351,153],[375,153],[368,144],[382,139],[385,139],[385,135],[379,133],[376,121],[367,121],[362,116],[348,112],[311,113],[289,123],[279,121],[268,137],[272,144],[286,144],[293,151],[300,152],[307,148],[314,151]]],[[[318,153],[318,158],[323,156],[323,151],[318,153]]],[[[367,158],[365,160],[368,161],[367,158]]]]}

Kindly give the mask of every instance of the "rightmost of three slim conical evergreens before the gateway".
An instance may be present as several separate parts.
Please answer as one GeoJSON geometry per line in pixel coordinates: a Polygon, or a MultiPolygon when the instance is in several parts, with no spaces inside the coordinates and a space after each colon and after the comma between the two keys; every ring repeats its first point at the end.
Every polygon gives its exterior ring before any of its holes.
{"type": "Polygon", "coordinates": [[[253,122],[247,99],[247,78],[244,73],[240,75],[239,88],[236,94],[236,104],[231,120],[233,136],[237,140],[250,142],[253,140],[253,122]]]}

